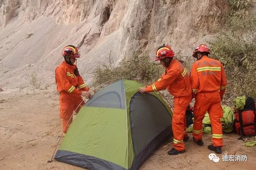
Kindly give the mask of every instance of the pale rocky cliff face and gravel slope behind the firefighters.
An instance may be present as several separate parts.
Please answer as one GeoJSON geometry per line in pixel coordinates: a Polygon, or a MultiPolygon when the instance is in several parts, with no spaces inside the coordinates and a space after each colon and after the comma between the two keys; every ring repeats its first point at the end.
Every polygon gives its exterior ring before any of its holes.
{"type": "Polygon", "coordinates": [[[227,11],[226,0],[0,0],[0,86],[29,86],[32,73],[53,85],[70,44],[87,82],[109,54],[118,63],[163,43],[191,53],[227,11]]]}

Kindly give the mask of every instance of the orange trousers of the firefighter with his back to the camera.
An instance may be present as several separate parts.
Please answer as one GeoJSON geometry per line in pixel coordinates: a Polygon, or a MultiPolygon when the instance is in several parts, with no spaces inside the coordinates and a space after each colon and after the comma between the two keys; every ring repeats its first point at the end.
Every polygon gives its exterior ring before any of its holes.
{"type": "Polygon", "coordinates": [[[207,111],[212,124],[213,146],[222,147],[223,134],[220,119],[223,117],[223,111],[221,108],[221,96],[219,92],[196,94],[194,105],[193,137],[195,140],[200,140],[203,138],[202,121],[207,111]]]}

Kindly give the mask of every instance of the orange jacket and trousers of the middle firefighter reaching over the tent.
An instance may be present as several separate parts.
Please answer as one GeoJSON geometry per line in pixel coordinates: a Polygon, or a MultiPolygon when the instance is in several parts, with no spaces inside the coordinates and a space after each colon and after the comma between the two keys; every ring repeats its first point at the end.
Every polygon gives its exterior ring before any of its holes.
{"type": "Polygon", "coordinates": [[[147,86],[146,92],[160,91],[167,89],[174,98],[174,113],[172,116],[172,131],[174,135],[173,146],[176,150],[185,150],[183,137],[188,136],[186,133],[186,108],[192,100],[191,84],[189,74],[184,66],[177,60],[172,62],[166,68],[164,74],[157,82],[147,86]]]}

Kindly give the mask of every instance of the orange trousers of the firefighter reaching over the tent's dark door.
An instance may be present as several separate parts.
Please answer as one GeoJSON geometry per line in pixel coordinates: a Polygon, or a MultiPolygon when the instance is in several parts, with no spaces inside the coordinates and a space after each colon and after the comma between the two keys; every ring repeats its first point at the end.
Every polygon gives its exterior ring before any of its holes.
{"type": "Polygon", "coordinates": [[[173,147],[176,150],[185,150],[183,138],[186,133],[186,109],[192,100],[192,96],[175,97],[174,111],[172,115],[173,147]]]}

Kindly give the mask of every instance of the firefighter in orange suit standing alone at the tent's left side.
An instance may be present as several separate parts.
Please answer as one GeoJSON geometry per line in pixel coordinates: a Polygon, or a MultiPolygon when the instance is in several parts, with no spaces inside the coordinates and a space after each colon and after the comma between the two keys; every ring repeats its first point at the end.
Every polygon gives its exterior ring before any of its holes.
{"type": "Polygon", "coordinates": [[[91,94],[74,64],[76,58],[80,57],[78,49],[73,45],[68,45],[63,49],[62,55],[65,61],[56,68],[55,81],[57,91],[60,92],[60,118],[62,120],[62,135],[65,136],[73,121],[73,111],[78,113],[81,106],[84,105],[81,96],[90,98],[91,94]]]}

